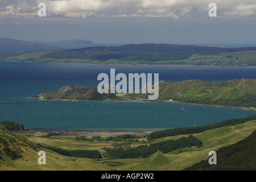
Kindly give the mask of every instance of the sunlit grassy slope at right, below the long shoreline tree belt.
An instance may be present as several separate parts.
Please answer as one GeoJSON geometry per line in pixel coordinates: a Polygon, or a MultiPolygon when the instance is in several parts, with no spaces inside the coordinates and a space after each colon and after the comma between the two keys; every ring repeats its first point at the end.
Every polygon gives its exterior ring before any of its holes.
{"type": "MultiPolygon", "coordinates": [[[[246,137],[256,130],[256,121],[249,121],[241,125],[232,127],[222,127],[205,131],[193,136],[203,141],[203,147],[181,148],[168,154],[152,154],[143,162],[137,164],[126,164],[116,167],[118,170],[182,170],[201,160],[208,159],[209,151],[216,151],[220,147],[229,146],[246,137]]],[[[188,135],[179,135],[175,137],[166,137],[155,140],[160,142],[167,139],[177,139],[188,135]]]]}

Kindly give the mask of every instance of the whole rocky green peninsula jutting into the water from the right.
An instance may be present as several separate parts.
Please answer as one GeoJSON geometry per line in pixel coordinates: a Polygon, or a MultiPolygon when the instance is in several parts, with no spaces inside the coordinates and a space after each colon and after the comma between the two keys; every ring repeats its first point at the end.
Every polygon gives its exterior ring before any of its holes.
{"type": "MultiPolygon", "coordinates": [[[[144,88],[142,88],[144,89],[144,88]]],[[[31,96],[41,100],[64,101],[109,101],[109,100],[143,100],[148,93],[100,94],[97,88],[89,86],[68,85],[59,91],[52,91],[31,96]]],[[[240,107],[255,110],[256,79],[205,82],[202,80],[185,80],[183,82],[159,82],[159,97],[154,102],[174,102],[205,106],[240,107]]]]}

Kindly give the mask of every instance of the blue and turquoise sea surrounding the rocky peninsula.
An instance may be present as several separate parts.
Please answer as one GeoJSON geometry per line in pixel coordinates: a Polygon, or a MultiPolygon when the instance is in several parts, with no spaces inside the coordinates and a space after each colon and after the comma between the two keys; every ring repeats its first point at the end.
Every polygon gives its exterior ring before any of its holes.
{"type": "Polygon", "coordinates": [[[0,121],[46,131],[160,130],[203,126],[256,111],[141,101],[27,99],[65,85],[96,87],[100,73],[159,73],[159,81],[256,78],[254,67],[0,62],[0,121]]]}

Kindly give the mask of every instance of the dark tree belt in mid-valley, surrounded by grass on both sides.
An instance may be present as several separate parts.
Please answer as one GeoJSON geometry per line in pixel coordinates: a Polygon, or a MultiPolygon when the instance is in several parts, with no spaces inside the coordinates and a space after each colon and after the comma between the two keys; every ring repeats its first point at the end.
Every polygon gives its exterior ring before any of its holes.
{"type": "Polygon", "coordinates": [[[196,137],[190,135],[189,137],[182,137],[177,140],[167,140],[159,143],[148,145],[141,145],[135,148],[123,149],[109,149],[106,151],[105,157],[111,159],[125,159],[125,158],[147,158],[149,155],[157,151],[164,154],[174,151],[178,148],[197,146],[201,147],[203,142],[196,137]]]}

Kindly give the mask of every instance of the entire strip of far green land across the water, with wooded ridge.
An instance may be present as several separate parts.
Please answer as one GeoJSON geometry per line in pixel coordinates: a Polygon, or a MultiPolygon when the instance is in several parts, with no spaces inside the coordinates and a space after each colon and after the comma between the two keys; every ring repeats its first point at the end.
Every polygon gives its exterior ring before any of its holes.
{"type": "Polygon", "coordinates": [[[200,47],[172,44],[127,44],[116,47],[86,47],[19,52],[0,52],[4,61],[36,61],[92,64],[179,64],[255,66],[254,47],[200,47]]]}

